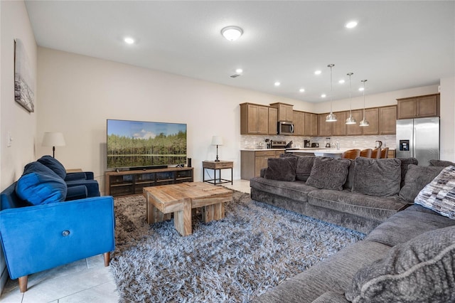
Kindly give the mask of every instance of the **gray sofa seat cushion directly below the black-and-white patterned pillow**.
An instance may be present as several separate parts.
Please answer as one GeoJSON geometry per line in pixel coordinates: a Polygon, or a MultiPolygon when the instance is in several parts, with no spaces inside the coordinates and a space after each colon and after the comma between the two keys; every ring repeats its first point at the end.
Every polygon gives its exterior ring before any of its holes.
{"type": "Polygon", "coordinates": [[[455,220],[416,204],[388,218],[369,233],[365,240],[395,246],[429,230],[453,225],[455,225],[455,220]]]}

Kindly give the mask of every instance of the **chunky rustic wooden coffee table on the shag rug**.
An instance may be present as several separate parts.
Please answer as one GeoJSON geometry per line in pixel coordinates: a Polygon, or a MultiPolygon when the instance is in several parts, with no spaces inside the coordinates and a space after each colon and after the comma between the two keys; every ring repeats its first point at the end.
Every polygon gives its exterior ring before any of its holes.
{"type": "Polygon", "coordinates": [[[203,221],[225,217],[225,202],[232,201],[232,191],[203,182],[186,182],[144,187],[147,223],[171,218],[181,235],[191,235],[191,210],[202,208],[203,221]]]}

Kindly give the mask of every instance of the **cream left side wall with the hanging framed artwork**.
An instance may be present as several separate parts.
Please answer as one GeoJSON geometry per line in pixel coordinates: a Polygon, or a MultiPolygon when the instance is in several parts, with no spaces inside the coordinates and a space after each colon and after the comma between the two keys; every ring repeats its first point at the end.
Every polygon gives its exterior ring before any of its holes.
{"type": "MultiPolygon", "coordinates": [[[[36,113],[29,113],[14,101],[14,38],[23,42],[35,79],[37,69],[36,42],[23,1],[0,1],[0,30],[0,187],[4,190],[21,176],[23,166],[36,158],[36,113]],[[8,132],[14,139],[11,147],[6,147],[8,132]]],[[[36,91],[35,96],[38,112],[36,91]]],[[[1,250],[0,275],[1,292],[7,277],[1,250]]]]}

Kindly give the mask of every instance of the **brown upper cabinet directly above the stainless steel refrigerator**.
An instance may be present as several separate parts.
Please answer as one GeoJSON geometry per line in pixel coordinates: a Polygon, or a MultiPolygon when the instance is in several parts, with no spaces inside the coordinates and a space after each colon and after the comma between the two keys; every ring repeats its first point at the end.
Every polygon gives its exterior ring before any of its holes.
{"type": "Polygon", "coordinates": [[[439,94],[397,99],[397,118],[439,117],[439,94]]]}

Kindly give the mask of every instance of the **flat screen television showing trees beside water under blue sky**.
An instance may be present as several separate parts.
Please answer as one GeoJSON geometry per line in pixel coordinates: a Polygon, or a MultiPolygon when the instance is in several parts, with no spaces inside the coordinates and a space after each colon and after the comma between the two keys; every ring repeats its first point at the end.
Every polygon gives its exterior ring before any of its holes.
{"type": "Polygon", "coordinates": [[[186,164],[186,124],[107,119],[107,169],[186,164]]]}

